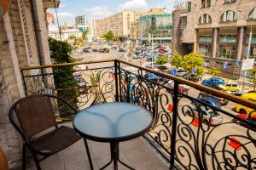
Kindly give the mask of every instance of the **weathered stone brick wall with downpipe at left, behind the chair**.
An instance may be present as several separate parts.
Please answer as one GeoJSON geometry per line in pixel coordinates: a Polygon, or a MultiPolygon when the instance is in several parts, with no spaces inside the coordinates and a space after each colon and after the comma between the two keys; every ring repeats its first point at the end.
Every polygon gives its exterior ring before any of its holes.
{"type": "Polygon", "coordinates": [[[45,11],[43,0],[11,0],[0,20],[0,148],[9,169],[21,169],[21,138],[9,122],[10,106],[25,96],[20,69],[51,64],[45,11]]]}

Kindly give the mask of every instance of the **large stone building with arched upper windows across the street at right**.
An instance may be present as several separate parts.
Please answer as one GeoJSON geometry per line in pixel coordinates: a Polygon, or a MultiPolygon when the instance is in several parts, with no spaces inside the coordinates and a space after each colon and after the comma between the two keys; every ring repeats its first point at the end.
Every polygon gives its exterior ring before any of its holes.
{"type": "Polygon", "coordinates": [[[256,1],[188,1],[187,8],[173,11],[172,31],[173,52],[194,50],[205,58],[205,66],[238,78],[247,72],[241,71],[242,60],[256,58],[256,1]]]}

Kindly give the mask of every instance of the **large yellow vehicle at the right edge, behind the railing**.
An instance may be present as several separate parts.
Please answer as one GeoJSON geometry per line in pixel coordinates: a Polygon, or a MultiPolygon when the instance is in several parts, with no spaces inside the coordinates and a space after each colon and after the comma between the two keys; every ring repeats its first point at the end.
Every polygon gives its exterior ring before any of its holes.
{"type": "MultiPolygon", "coordinates": [[[[248,94],[243,94],[241,95],[242,99],[248,99],[251,101],[256,102],[256,93],[248,93],[248,94]]],[[[249,114],[250,112],[254,111],[252,108],[249,108],[245,105],[236,105],[236,111],[241,113],[241,114],[249,114]]]]}

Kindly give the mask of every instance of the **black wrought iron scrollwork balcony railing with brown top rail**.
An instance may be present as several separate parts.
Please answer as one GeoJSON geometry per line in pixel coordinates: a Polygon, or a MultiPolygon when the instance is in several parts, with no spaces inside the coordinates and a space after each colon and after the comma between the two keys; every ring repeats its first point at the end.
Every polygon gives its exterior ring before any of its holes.
{"type": "Polygon", "coordinates": [[[66,89],[55,88],[54,77],[60,74],[55,68],[70,65],[80,65],[70,74],[72,79],[79,75],[85,84],[78,81],[72,87],[65,86],[67,91],[77,89],[72,100],[77,109],[119,101],[143,105],[152,111],[154,124],[145,137],[171,168],[255,168],[253,101],[118,59],[22,69],[26,94],[65,93],[66,89]],[[91,78],[92,75],[98,76],[91,78]],[[238,114],[234,108],[247,114],[238,114]]]}

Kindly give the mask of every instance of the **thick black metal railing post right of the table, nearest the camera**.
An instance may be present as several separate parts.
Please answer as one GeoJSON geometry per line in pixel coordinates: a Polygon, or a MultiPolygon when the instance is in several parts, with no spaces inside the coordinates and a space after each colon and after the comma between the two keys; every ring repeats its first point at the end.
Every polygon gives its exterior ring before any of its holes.
{"type": "Polygon", "coordinates": [[[177,102],[178,102],[178,82],[177,81],[174,81],[174,95],[173,95],[172,101],[173,101],[173,113],[172,113],[170,169],[173,169],[174,161],[175,161],[175,145],[176,145],[176,133],[177,133],[177,102]]]}

